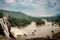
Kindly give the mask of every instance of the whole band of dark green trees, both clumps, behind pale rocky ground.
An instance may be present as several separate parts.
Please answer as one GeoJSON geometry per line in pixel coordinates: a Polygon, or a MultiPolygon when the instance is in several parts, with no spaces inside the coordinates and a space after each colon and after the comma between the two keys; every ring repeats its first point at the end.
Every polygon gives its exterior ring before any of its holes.
{"type": "Polygon", "coordinates": [[[15,26],[27,26],[29,24],[31,24],[32,21],[34,21],[36,23],[36,25],[41,25],[41,24],[45,24],[44,21],[42,21],[40,18],[26,18],[26,17],[20,17],[16,18],[16,17],[8,17],[9,22],[11,23],[11,26],[15,27],[15,26]]]}

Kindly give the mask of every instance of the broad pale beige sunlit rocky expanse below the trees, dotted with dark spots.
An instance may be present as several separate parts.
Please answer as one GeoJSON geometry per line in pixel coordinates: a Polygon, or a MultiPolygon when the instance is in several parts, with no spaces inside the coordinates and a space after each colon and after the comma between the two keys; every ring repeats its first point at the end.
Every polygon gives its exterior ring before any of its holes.
{"type": "Polygon", "coordinates": [[[11,27],[11,32],[13,33],[14,37],[17,37],[17,35],[26,36],[25,38],[37,38],[37,37],[44,37],[46,38],[49,36],[52,38],[52,31],[54,31],[54,34],[57,32],[60,32],[60,29],[58,25],[52,26],[52,22],[48,22],[45,20],[45,25],[36,26],[36,23],[33,21],[30,25],[27,25],[24,28],[17,28],[17,27],[11,27]]]}

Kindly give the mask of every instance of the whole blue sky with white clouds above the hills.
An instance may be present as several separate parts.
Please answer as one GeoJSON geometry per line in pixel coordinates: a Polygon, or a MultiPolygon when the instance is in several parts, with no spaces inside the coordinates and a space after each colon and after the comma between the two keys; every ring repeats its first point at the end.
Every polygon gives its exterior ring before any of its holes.
{"type": "Polygon", "coordinates": [[[47,17],[60,13],[60,0],[0,0],[0,9],[47,17]]]}

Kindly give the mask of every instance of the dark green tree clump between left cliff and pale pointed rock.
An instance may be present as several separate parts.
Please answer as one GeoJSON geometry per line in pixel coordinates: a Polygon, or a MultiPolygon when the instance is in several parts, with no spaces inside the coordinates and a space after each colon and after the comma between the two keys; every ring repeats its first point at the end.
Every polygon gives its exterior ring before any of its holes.
{"type": "Polygon", "coordinates": [[[16,18],[16,17],[8,17],[9,22],[11,23],[11,26],[15,27],[15,26],[26,26],[28,24],[31,23],[30,19],[26,19],[26,18],[16,18]]]}

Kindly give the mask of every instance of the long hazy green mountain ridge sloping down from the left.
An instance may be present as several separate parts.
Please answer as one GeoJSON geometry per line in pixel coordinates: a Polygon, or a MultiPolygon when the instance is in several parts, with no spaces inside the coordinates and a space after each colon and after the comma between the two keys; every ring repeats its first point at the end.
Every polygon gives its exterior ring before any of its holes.
{"type": "Polygon", "coordinates": [[[3,12],[7,17],[8,16],[14,16],[14,17],[25,17],[28,18],[29,16],[22,13],[22,12],[15,12],[15,11],[7,11],[7,10],[0,10],[0,12],[3,12]]]}

